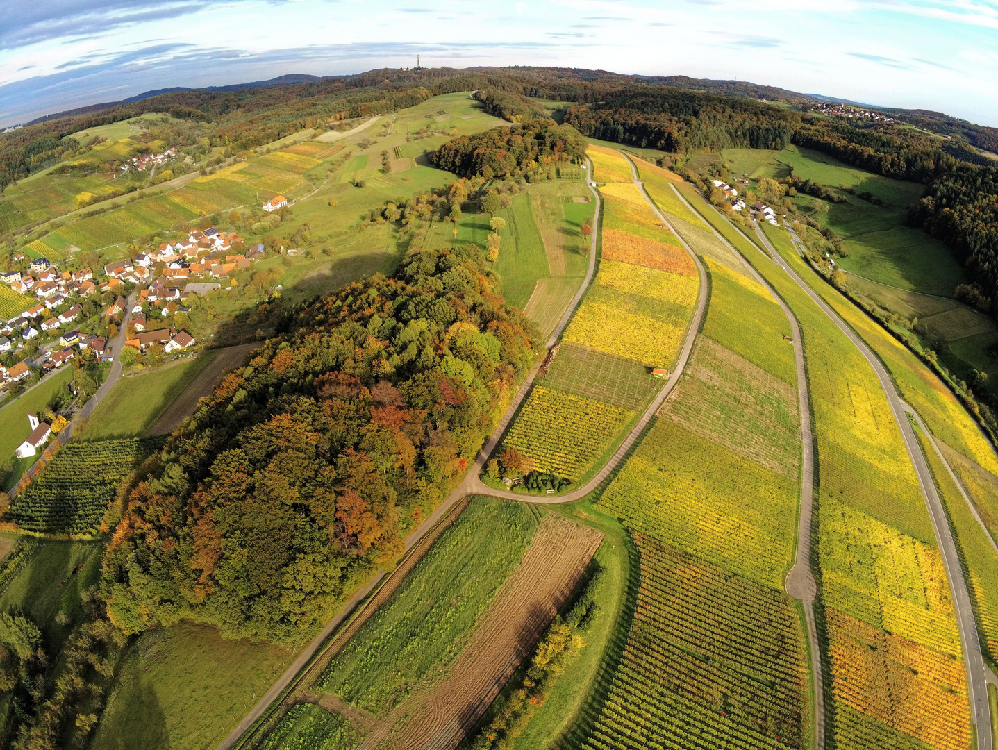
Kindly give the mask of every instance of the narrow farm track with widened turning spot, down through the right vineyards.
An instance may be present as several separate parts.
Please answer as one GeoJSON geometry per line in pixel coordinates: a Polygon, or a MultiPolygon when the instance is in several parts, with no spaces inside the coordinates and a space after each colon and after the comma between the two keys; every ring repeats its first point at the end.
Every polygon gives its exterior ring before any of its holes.
{"type": "MultiPolygon", "coordinates": [[[[676,186],[670,186],[677,197],[687,206],[694,215],[698,211],[690,201],[681,193],[676,186]]],[[[712,206],[713,209],[713,206],[712,206]]],[[[720,215],[720,214],[719,214],[720,215]]],[[[817,637],[817,623],[814,618],[814,597],[817,595],[817,581],[814,578],[814,571],[811,568],[811,533],[814,529],[814,434],[811,430],[810,422],[810,389],[807,387],[807,370],[804,366],[804,347],[800,335],[800,326],[797,318],[790,308],[783,301],[782,297],[776,294],[775,290],[769,286],[768,282],[762,278],[761,274],[752,267],[749,260],[739,252],[738,248],[717,229],[710,221],[705,222],[714,235],[741,258],[743,265],[758,283],[772,295],[772,298],[779,304],[783,314],[790,324],[793,335],[793,360],[794,369],[797,375],[797,408],[800,414],[800,445],[802,449],[802,461],[800,471],[800,510],[797,515],[797,535],[796,535],[796,556],[793,566],[787,573],[783,581],[786,593],[791,598],[798,600],[803,606],[804,619],[806,621],[807,642],[810,646],[811,661],[811,689],[813,692],[813,727],[814,727],[814,748],[822,750],[824,748],[825,735],[825,710],[824,710],[824,673],[821,668],[820,641],[817,637]]]]}

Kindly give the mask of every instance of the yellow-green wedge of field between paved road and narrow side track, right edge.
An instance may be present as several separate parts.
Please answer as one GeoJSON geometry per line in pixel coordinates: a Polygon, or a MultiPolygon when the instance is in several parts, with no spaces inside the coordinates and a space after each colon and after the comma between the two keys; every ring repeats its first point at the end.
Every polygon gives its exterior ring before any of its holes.
{"type": "MultiPolygon", "coordinates": [[[[990,655],[991,661],[998,662],[998,555],[995,554],[988,533],[977,523],[959,488],[939,460],[928,436],[917,427],[915,434],[932,470],[936,487],[939,489],[939,497],[953,524],[953,531],[966,564],[966,577],[969,581],[969,592],[976,604],[975,615],[981,643],[986,649],[985,653],[990,655]]],[[[952,461],[949,463],[952,467],[952,461]]]]}

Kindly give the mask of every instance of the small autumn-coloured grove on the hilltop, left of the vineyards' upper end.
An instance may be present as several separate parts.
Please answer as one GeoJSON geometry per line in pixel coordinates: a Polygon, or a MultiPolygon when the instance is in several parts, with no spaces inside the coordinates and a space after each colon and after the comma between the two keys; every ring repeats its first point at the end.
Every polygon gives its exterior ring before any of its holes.
{"type": "Polygon", "coordinates": [[[549,119],[462,136],[441,146],[433,163],[461,177],[519,178],[536,167],[578,162],[586,140],[549,119]]]}

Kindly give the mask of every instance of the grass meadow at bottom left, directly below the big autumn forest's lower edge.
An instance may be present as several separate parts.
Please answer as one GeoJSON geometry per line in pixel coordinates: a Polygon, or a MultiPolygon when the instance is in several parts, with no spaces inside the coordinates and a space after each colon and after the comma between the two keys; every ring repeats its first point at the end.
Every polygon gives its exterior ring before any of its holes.
{"type": "Polygon", "coordinates": [[[293,658],[193,623],[147,632],[124,657],[89,747],[214,748],[293,658]]]}

